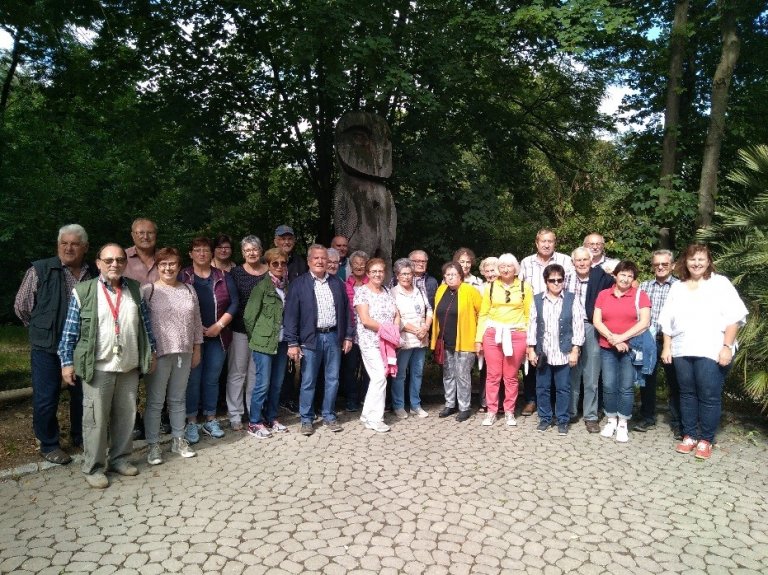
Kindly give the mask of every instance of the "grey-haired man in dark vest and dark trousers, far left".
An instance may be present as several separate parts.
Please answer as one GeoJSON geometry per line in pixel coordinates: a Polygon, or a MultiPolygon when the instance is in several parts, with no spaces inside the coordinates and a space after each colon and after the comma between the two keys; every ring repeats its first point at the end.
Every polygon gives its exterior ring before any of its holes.
{"type": "MultiPolygon", "coordinates": [[[[14,311],[29,328],[32,367],[32,426],[40,454],[51,463],[72,458],[61,449],[56,413],[61,395],[61,367],[56,351],[67,316],[69,295],[75,284],[91,279],[84,262],[88,234],[69,224],[59,230],[57,254],[32,262],[16,294],[14,311]]],[[[83,387],[79,379],[69,386],[70,443],[83,443],[83,387]]]]}

